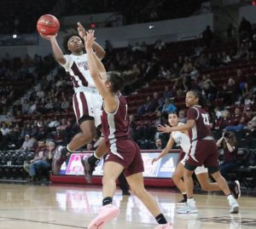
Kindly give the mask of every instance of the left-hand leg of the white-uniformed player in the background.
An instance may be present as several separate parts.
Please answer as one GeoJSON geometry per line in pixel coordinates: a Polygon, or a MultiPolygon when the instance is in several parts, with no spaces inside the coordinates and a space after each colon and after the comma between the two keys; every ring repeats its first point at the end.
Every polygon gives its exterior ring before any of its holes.
{"type": "Polygon", "coordinates": [[[177,186],[178,190],[183,194],[183,200],[179,201],[178,203],[186,203],[187,202],[187,193],[184,182],[182,180],[184,171],[184,165],[182,162],[177,163],[177,167],[172,175],[172,180],[177,186]]]}

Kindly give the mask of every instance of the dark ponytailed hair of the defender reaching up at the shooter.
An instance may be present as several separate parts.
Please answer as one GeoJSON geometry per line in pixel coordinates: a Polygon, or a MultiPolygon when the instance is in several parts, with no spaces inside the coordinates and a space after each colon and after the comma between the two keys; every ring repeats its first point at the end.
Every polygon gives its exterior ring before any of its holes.
{"type": "Polygon", "coordinates": [[[107,72],[108,81],[112,83],[113,93],[123,89],[126,85],[134,83],[137,80],[139,71],[131,72],[107,72]]]}

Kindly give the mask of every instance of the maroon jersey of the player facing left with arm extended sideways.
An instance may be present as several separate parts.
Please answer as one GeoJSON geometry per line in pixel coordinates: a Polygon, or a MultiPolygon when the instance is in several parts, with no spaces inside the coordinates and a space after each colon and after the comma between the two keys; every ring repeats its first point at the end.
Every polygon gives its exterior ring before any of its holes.
{"type": "Polygon", "coordinates": [[[189,119],[195,120],[195,125],[189,130],[190,140],[201,140],[211,135],[209,114],[201,106],[192,106],[187,112],[189,119]]]}

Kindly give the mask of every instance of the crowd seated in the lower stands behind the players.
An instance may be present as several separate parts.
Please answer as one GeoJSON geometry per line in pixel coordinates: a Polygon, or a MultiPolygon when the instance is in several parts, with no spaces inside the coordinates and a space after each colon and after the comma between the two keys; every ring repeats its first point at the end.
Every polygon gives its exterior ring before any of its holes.
{"type": "MultiPolygon", "coordinates": [[[[224,135],[223,131],[233,131],[237,147],[241,140],[244,146],[254,147],[256,60],[252,47],[256,31],[255,26],[247,32],[241,27],[238,46],[232,40],[216,43],[209,27],[206,33],[212,36],[187,42],[158,40],[154,45],[136,43],[125,49],[112,49],[108,43],[103,60],[108,71],[137,68],[141,72],[137,82],[123,93],[130,106],[131,136],[142,149],[159,148],[156,142],[165,146],[169,136],[157,133],[156,127],[167,123],[168,112],[178,112],[181,122],[186,122],[184,95],[189,89],[201,90],[207,100],[216,139],[224,135]],[[186,53],[179,51],[188,44],[186,53]],[[217,76],[218,72],[224,77],[217,76]]],[[[29,166],[33,177],[35,168],[43,168],[54,157],[49,152],[38,155],[37,140],[50,139],[57,146],[66,145],[79,131],[72,110],[73,86],[51,55],[26,56],[23,60],[7,55],[0,66],[0,93],[6,100],[1,106],[0,148],[35,152],[34,159],[29,160],[35,163],[29,166]]]]}

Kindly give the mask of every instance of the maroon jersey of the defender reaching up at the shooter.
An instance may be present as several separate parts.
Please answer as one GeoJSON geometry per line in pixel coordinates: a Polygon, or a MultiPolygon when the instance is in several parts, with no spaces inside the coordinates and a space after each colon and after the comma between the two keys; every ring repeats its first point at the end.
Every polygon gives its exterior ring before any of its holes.
{"type": "Polygon", "coordinates": [[[118,106],[115,112],[102,112],[102,134],[110,145],[118,139],[129,137],[129,120],[127,117],[127,102],[122,94],[116,94],[118,106]]]}

